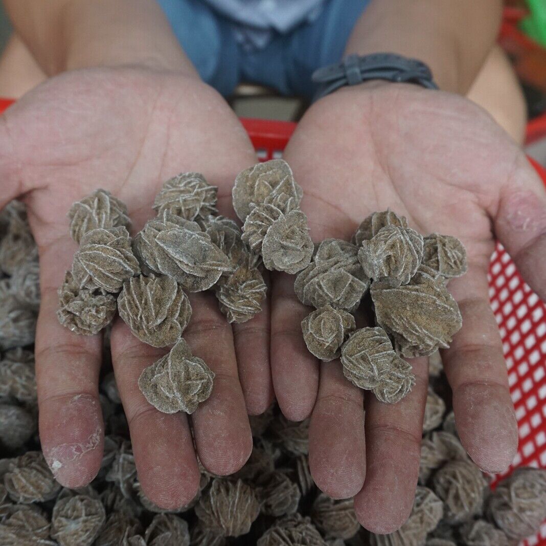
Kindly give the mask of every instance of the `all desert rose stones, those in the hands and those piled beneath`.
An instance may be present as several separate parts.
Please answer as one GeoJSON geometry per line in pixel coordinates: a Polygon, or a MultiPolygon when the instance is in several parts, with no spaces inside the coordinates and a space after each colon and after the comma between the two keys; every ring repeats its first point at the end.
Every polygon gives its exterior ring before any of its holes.
{"type": "Polygon", "coordinates": [[[296,295],[315,308],[302,321],[311,353],[343,366],[348,379],[394,403],[411,389],[402,357],[430,355],[419,483],[410,518],[390,535],[357,521],[353,501],[314,485],[308,420],[285,419],[276,406],[251,417],[252,454],[241,470],[218,477],[201,467],[187,506],[164,510],[140,487],[105,335],[100,404],[105,450],[97,477],[69,490],[40,450],[34,378],[34,328],[40,293],[38,257],[25,207],[0,214],[0,544],[5,546],[511,546],[546,518],[546,471],[519,468],[497,485],[462,447],[438,348],[461,325],[446,290],[464,273],[454,238],[421,237],[394,212],[374,213],[351,242],[313,245],[302,198],[286,163],[242,172],[234,208],[244,227],[216,213],[216,189],[196,173],[169,180],[157,217],[134,240],[127,209],[97,190],[70,210],[80,243],[60,289],[58,318],[75,333],[105,328],[116,309],[133,334],[168,354],[139,385],[163,412],[192,413],[209,396],[213,374],[182,338],[191,320],[187,292],[213,290],[228,321],[260,311],[262,267],[296,273],[296,295]],[[355,327],[371,296],[375,325],[355,327]],[[167,372],[167,373],[165,373],[167,372]],[[167,379],[168,378],[168,379],[167,379]]]}

